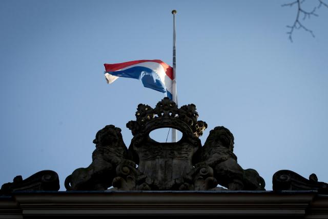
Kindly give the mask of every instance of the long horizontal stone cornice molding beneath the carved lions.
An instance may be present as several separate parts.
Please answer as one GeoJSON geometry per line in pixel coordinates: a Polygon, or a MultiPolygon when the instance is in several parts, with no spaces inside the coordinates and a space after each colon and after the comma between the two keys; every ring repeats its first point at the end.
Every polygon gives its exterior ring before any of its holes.
{"type": "Polygon", "coordinates": [[[0,196],[0,218],[63,215],[328,218],[328,195],[316,191],[70,191],[0,196]]]}

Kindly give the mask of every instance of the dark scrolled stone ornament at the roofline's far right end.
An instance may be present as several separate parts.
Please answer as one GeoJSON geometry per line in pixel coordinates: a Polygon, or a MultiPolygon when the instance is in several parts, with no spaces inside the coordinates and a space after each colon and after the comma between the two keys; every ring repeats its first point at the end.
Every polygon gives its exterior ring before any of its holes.
{"type": "Polygon", "coordinates": [[[318,182],[312,173],[309,180],[291,170],[279,170],[272,177],[274,191],[280,190],[317,190],[320,194],[328,194],[328,184],[318,182]]]}

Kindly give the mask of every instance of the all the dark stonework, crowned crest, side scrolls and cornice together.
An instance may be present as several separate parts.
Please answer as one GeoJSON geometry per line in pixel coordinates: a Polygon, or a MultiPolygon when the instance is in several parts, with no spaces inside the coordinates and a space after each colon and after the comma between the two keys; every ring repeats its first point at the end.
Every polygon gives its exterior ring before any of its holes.
{"type": "Polygon", "coordinates": [[[265,191],[259,173],[237,163],[227,128],[215,127],[202,146],[199,136],[207,124],[198,121],[194,104],[178,108],[164,98],[155,108],[139,104],[135,115],[127,124],[133,134],[129,149],[120,128],[99,130],[92,163],[67,176],[67,191],[58,192],[58,175],[51,170],[4,184],[0,218],[328,218],[328,184],[315,174],[308,180],[277,171],[274,191],[265,191]],[[149,136],[166,127],[181,131],[181,140],[158,143],[149,136]]]}

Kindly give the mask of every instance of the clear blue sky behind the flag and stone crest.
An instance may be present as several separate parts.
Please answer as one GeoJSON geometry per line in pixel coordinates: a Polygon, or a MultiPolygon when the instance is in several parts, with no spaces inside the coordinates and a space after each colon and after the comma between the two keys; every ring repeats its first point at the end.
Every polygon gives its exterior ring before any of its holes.
{"type": "Polygon", "coordinates": [[[173,9],[179,105],[195,104],[207,122],[202,144],[228,128],[238,163],[267,190],[282,169],[328,183],[328,8],[301,19],[315,37],[295,30],[292,43],[286,25],[297,9],[281,7],[289,2],[0,1],[0,185],[48,169],[65,191],[106,125],[130,145],[137,105],[155,107],[163,94],[131,78],[107,85],[103,64],[172,65],[173,9]]]}

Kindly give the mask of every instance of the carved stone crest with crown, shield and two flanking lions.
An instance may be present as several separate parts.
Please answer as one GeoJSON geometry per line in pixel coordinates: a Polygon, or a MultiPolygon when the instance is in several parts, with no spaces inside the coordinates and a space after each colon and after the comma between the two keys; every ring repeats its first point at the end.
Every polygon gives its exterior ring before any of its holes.
{"type": "Polygon", "coordinates": [[[216,127],[204,145],[199,136],[207,128],[197,121],[194,104],[178,108],[165,97],[155,108],[139,104],[136,120],[127,123],[133,138],[129,149],[120,129],[99,130],[93,143],[92,163],[78,168],[65,180],[67,190],[264,190],[264,180],[254,169],[242,169],[233,153],[234,137],[216,127]],[[174,128],[182,133],[176,143],[158,143],[149,133],[174,128]]]}

